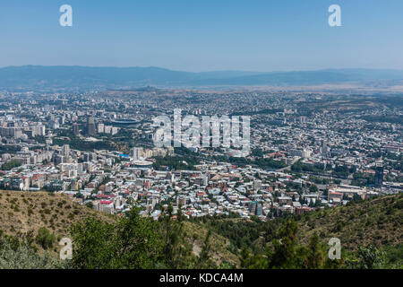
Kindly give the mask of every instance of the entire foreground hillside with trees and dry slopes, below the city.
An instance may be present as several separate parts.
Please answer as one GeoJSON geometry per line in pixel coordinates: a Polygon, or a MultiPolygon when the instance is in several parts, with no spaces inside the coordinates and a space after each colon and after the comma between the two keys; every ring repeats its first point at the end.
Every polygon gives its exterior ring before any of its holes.
{"type": "Polygon", "coordinates": [[[0,268],[396,268],[402,207],[403,195],[382,196],[262,222],[189,221],[168,206],[153,221],[139,208],[117,217],[67,196],[0,191],[0,268]],[[57,257],[64,236],[73,239],[68,262],[57,257]],[[327,256],[333,237],[339,261],[327,256]]]}

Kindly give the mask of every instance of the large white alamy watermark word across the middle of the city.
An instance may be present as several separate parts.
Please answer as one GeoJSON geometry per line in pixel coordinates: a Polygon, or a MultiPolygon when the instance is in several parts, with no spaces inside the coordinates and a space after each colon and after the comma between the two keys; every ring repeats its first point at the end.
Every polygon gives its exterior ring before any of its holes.
{"type": "Polygon", "coordinates": [[[199,117],[187,115],[182,119],[181,112],[181,109],[174,109],[174,125],[167,116],[154,118],[154,126],[159,126],[153,136],[157,147],[172,147],[172,143],[174,147],[187,148],[221,146],[242,148],[244,156],[249,154],[251,149],[251,118],[249,116],[232,116],[231,118],[202,116],[200,120],[199,117]]]}

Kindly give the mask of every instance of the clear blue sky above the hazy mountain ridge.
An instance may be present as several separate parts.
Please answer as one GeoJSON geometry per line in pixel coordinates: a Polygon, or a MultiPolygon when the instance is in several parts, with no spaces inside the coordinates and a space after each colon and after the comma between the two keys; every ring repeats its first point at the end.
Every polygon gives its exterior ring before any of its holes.
{"type": "Polygon", "coordinates": [[[402,0],[3,0],[0,66],[403,70],[402,11],[402,0]],[[63,4],[73,27],[59,24],[63,4]]]}

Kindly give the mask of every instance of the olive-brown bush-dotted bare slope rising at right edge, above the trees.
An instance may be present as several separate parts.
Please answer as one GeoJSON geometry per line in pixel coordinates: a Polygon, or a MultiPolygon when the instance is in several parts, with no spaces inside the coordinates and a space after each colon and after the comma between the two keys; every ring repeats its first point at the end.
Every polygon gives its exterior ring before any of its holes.
{"type": "Polygon", "coordinates": [[[308,213],[297,223],[302,242],[317,232],[321,239],[339,238],[347,250],[370,244],[397,246],[403,242],[403,194],[308,213]]]}

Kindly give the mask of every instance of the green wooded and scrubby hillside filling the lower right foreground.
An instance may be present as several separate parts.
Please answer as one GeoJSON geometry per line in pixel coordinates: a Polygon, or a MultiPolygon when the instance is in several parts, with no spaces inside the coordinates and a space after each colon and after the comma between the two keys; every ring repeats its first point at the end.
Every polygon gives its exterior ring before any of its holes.
{"type": "Polygon", "coordinates": [[[307,256],[311,253],[321,258],[318,259],[321,264],[316,267],[394,268],[403,264],[402,210],[403,194],[399,194],[354,201],[346,206],[319,209],[269,222],[231,215],[194,219],[193,223],[199,229],[212,230],[229,239],[231,244],[227,249],[240,258],[243,267],[308,268],[307,256]],[[326,262],[331,238],[341,241],[343,260],[339,265],[326,262]],[[281,250],[279,242],[286,240],[290,242],[290,249],[281,250]],[[309,248],[313,249],[309,251],[309,248]],[[288,255],[282,253],[286,251],[288,255]],[[294,254],[292,257],[299,257],[299,261],[281,261],[273,254],[283,259],[294,254]],[[366,261],[372,263],[360,265],[360,262],[366,261]]]}

